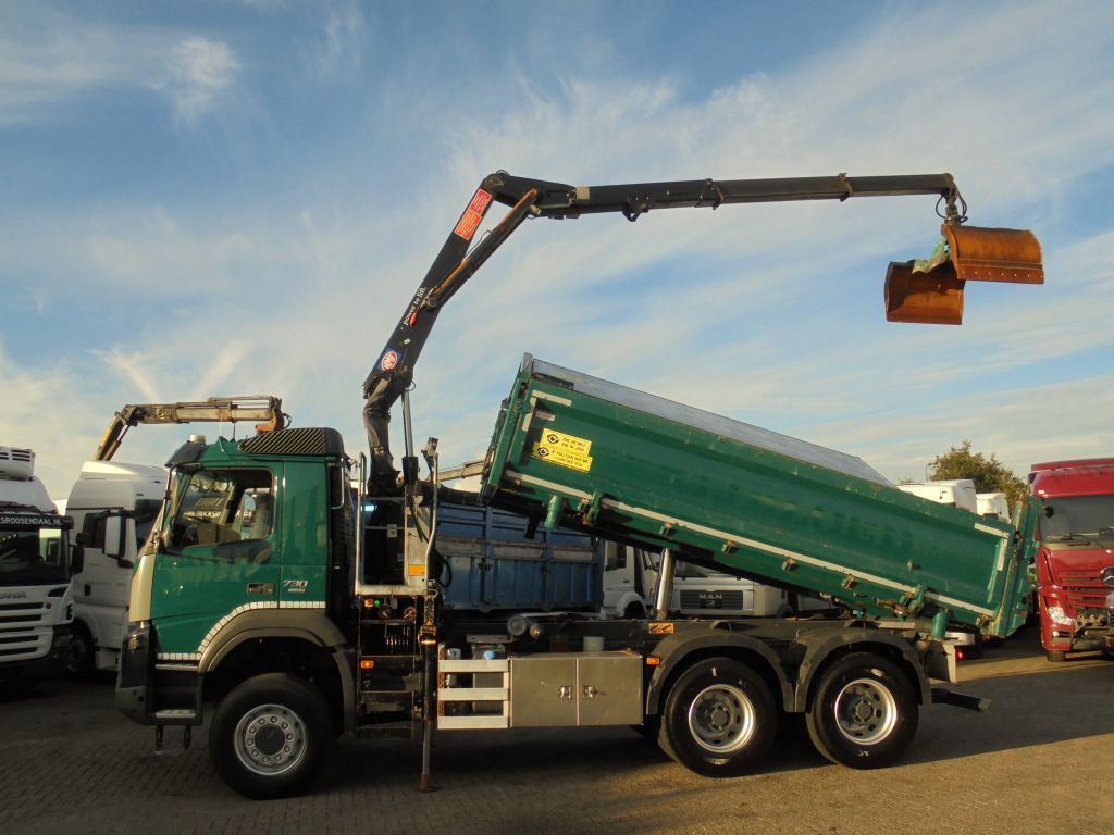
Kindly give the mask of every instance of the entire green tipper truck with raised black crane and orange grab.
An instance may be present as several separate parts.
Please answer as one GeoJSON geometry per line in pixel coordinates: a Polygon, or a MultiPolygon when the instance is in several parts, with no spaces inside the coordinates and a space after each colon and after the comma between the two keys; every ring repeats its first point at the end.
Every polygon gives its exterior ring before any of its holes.
{"type": "Polygon", "coordinates": [[[434,730],[632,725],[688,768],[726,776],[762,760],[783,714],[803,714],[824,756],[861,768],[906,749],[921,705],[981,706],[930,679],[955,678],[949,623],[1017,627],[1027,505],[1017,536],[905,495],[852,456],[528,361],[489,446],[483,501],[526,517],[528,532],[564,524],[662,551],[654,611],[603,618],[526,598],[528,609],[453,608],[433,536],[437,443],[422,480],[410,433],[407,391],[440,307],[528,216],[900,194],[945,200],[950,244],[931,263],[891,264],[889,318],[958,324],[966,281],[1043,281],[1032,234],[961,227],[947,175],[486,178],[364,383],[370,471],[331,429],[195,440],[172,456],[131,583],[119,707],[155,727],[156,745],[166,726],[188,740],[212,709],[217,773],[276,797],[302,790],[341,734],[420,738],[428,789],[434,730]],[[470,248],[492,202],[511,209],[470,248]],[[399,399],[401,473],[388,442],[399,399]],[[677,559],[825,595],[844,616],[671,617],[677,559]]]}

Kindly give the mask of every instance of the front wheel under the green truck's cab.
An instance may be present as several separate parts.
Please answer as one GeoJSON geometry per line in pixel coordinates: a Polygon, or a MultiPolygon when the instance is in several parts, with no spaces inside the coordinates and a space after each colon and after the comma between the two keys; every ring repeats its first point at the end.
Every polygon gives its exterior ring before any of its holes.
{"type": "Polygon", "coordinates": [[[305,789],[332,749],[324,697],[284,672],[250,678],[217,706],[209,758],[221,778],[254,799],[290,797],[305,789]]]}

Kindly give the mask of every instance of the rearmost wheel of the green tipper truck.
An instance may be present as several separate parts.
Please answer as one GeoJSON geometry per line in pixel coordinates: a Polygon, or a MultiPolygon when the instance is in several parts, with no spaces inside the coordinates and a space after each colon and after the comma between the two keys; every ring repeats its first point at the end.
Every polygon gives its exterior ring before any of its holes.
{"type": "Polygon", "coordinates": [[[917,720],[905,674],[872,652],[853,652],[824,670],[805,714],[817,750],[851,768],[889,765],[909,747],[917,720]]]}

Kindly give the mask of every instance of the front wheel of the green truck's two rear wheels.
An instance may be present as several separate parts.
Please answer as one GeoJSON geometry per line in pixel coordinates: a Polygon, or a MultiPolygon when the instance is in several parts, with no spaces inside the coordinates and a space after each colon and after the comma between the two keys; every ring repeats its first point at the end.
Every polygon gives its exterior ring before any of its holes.
{"type": "Polygon", "coordinates": [[[670,689],[658,745],[706,777],[732,777],[760,763],[773,744],[778,709],[754,670],[730,658],[709,658],[670,689]]]}

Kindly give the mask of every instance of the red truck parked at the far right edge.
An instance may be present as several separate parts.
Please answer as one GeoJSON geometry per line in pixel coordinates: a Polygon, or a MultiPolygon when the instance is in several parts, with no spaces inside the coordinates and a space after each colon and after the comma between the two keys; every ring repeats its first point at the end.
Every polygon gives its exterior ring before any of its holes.
{"type": "Polygon", "coordinates": [[[1111,616],[1102,576],[1114,571],[1114,458],[1033,464],[1029,490],[1044,503],[1036,571],[1048,660],[1104,649],[1111,616]]]}

